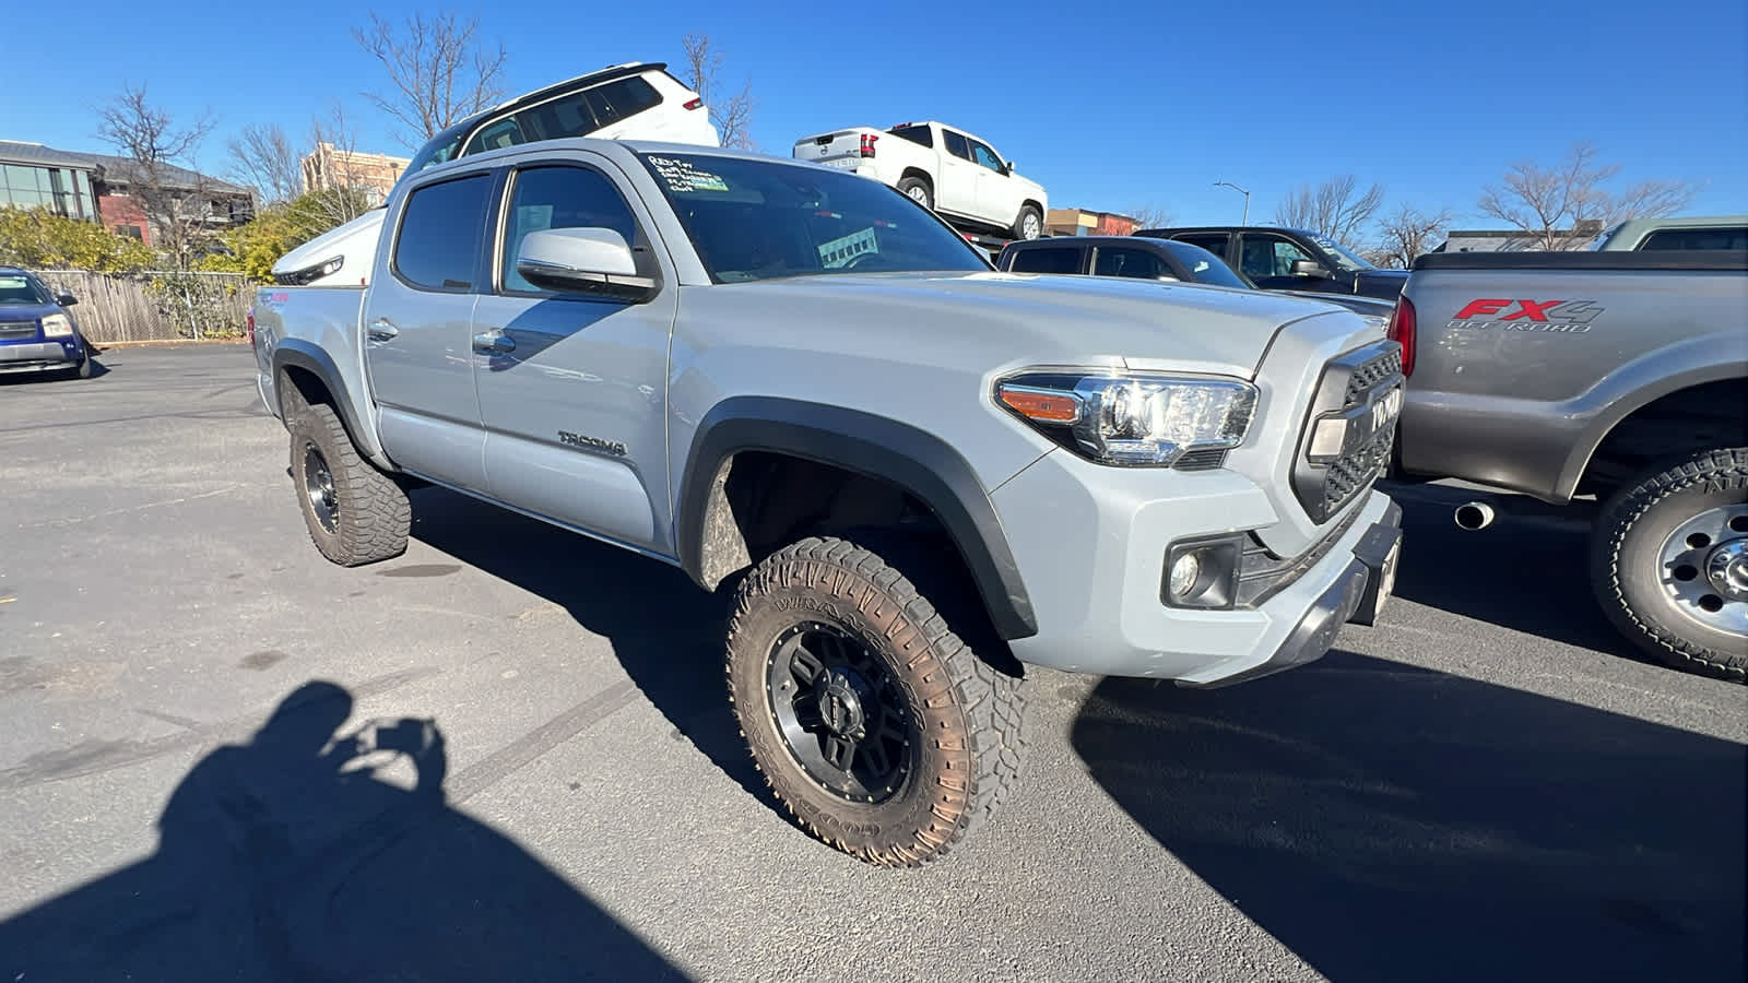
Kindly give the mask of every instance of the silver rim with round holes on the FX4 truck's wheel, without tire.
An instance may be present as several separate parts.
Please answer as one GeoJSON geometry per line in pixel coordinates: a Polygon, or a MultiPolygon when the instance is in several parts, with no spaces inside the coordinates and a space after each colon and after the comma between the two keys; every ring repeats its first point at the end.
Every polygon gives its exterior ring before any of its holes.
{"type": "Polygon", "coordinates": [[[1662,589],[1687,617],[1748,637],[1748,505],[1706,509],[1662,542],[1662,589]]]}

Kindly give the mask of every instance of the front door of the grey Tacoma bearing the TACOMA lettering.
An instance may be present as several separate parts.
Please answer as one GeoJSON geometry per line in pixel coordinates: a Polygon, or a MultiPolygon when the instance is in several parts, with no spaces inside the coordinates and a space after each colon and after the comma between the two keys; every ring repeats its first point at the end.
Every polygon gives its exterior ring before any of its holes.
{"type": "Polygon", "coordinates": [[[664,406],[676,290],[643,304],[559,297],[516,275],[521,236],[549,227],[615,229],[643,245],[640,269],[664,275],[603,170],[542,164],[512,178],[500,290],[474,310],[474,334],[489,341],[474,352],[486,476],[491,495],[510,505],[668,554],[664,406]]]}

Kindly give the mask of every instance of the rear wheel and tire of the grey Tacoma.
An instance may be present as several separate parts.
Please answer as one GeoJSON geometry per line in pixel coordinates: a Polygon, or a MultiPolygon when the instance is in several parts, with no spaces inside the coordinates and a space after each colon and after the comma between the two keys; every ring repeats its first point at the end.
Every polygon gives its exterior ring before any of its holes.
{"type": "Polygon", "coordinates": [[[413,504],[388,474],[364,460],[334,408],[299,406],[287,429],[297,505],[322,556],[360,567],[406,553],[413,504]]]}

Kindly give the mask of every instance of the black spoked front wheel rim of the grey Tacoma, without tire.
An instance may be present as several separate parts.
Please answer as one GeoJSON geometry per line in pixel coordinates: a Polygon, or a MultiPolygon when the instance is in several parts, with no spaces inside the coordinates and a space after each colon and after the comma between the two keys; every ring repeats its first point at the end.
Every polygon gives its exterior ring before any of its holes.
{"type": "Polygon", "coordinates": [[[867,645],[815,621],[778,635],[766,663],[771,715],[820,787],[855,803],[904,789],[916,742],[904,693],[867,645]]]}

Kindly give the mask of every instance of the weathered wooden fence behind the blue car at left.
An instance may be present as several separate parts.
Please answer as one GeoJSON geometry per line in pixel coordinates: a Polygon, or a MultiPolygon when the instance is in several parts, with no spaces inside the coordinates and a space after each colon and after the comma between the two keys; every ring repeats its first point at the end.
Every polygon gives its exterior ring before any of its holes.
{"type": "Polygon", "coordinates": [[[236,338],[255,290],[241,273],[89,273],[37,269],[56,294],[72,294],[73,318],[91,341],[236,338]]]}

